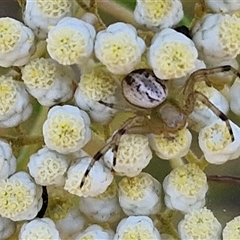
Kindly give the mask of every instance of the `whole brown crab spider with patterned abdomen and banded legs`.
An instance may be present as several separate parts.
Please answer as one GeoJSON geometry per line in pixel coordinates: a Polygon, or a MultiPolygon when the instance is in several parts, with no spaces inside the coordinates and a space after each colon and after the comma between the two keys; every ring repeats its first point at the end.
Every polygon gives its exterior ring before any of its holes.
{"type": "MultiPolygon", "coordinates": [[[[122,81],[122,93],[131,105],[139,109],[134,111],[137,116],[128,119],[112,136],[112,139],[93,156],[81,180],[80,187],[83,186],[85,178],[88,176],[94,163],[100,160],[110,149],[112,149],[114,154],[113,167],[116,165],[117,150],[123,134],[154,133],[159,135],[164,133],[166,136],[171,137],[171,133],[175,133],[186,126],[188,116],[194,110],[196,101],[201,101],[226,123],[232,141],[234,141],[232,128],[227,116],[212,104],[205,95],[194,90],[194,85],[198,81],[205,81],[208,86],[211,86],[212,83],[207,76],[222,72],[231,72],[240,77],[240,73],[228,65],[197,70],[191,74],[183,86],[181,101],[168,97],[167,82],[157,78],[152,70],[137,69],[129,73],[122,81]]],[[[100,103],[111,108],[124,109],[116,104],[103,101],[100,103]]]]}

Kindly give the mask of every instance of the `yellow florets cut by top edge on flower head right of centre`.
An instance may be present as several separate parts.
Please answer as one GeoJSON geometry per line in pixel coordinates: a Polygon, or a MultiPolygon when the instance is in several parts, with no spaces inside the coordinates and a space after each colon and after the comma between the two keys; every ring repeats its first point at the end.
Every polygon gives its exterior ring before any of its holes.
{"type": "Polygon", "coordinates": [[[162,19],[164,16],[166,16],[173,6],[172,1],[169,0],[141,0],[141,4],[145,10],[145,17],[153,23],[158,22],[159,19],[162,19]]]}

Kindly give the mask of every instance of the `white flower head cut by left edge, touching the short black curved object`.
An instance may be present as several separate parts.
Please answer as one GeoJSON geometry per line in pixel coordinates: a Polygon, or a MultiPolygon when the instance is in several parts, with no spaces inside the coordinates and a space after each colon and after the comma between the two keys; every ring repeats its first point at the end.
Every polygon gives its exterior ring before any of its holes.
{"type": "Polygon", "coordinates": [[[42,187],[17,172],[0,181],[0,215],[13,221],[33,219],[42,207],[42,187]]]}

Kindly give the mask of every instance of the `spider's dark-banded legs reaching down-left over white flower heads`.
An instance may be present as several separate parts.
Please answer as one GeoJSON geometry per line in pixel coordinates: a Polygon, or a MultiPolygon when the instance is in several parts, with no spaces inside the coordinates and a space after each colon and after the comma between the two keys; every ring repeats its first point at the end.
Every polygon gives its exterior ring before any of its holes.
{"type": "Polygon", "coordinates": [[[88,176],[91,168],[93,167],[94,163],[96,161],[99,161],[104,154],[109,150],[109,149],[113,149],[113,154],[114,154],[114,158],[113,158],[113,166],[116,165],[116,153],[118,150],[118,146],[119,146],[119,141],[122,137],[122,135],[124,135],[125,133],[128,133],[129,129],[131,129],[131,127],[137,123],[142,123],[146,120],[146,118],[144,116],[135,116],[132,117],[130,119],[128,119],[120,129],[117,130],[117,132],[113,135],[112,139],[105,144],[105,146],[100,149],[92,158],[91,162],[89,163],[87,169],[85,170],[81,183],[80,183],[80,188],[82,188],[82,186],[84,185],[85,179],[88,176]]]}

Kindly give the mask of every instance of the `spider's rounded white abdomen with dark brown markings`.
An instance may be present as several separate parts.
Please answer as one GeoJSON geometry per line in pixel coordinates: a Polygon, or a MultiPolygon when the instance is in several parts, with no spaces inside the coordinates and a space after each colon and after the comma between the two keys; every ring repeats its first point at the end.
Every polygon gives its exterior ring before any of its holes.
{"type": "Polygon", "coordinates": [[[154,108],[168,95],[164,81],[148,69],[138,69],[128,74],[122,81],[122,91],[129,103],[141,108],[154,108]]]}

